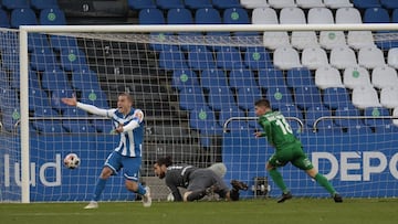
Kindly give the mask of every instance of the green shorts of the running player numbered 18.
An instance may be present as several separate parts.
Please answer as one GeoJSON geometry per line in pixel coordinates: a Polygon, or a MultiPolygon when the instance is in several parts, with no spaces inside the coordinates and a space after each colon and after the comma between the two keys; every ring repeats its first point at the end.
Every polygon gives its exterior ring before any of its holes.
{"type": "Polygon", "coordinates": [[[301,143],[294,143],[283,149],[276,150],[269,159],[272,167],[284,167],[289,162],[301,170],[314,168],[308,157],[304,153],[301,143]]]}

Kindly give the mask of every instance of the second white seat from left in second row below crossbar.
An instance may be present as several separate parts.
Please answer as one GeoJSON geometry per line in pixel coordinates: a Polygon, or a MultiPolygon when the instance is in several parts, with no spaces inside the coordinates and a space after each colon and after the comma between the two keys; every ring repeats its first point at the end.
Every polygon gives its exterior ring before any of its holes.
{"type": "Polygon", "coordinates": [[[328,66],[328,60],[325,50],[321,49],[320,46],[304,49],[302,52],[302,65],[310,70],[328,66]]]}

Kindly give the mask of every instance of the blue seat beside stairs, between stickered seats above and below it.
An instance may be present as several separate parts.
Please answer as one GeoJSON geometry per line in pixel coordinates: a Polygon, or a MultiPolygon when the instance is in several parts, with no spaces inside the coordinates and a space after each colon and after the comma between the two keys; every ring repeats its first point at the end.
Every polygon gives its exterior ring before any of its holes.
{"type": "Polygon", "coordinates": [[[182,88],[179,92],[179,106],[185,110],[192,110],[206,105],[203,92],[200,87],[182,88]]]}

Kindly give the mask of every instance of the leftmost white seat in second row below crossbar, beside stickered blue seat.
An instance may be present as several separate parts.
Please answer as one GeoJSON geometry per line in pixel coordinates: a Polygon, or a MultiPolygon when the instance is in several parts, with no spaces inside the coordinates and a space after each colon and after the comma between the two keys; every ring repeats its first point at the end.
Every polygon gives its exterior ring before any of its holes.
{"type": "Polygon", "coordinates": [[[273,53],[273,61],[274,66],[280,70],[302,67],[297,51],[290,45],[277,47],[273,53]]]}

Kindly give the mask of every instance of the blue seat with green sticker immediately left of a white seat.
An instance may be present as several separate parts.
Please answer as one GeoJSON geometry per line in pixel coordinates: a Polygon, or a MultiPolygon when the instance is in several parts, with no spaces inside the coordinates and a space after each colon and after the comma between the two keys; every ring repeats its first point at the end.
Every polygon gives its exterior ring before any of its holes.
{"type": "Polygon", "coordinates": [[[244,53],[244,65],[256,71],[273,67],[270,53],[262,46],[247,47],[244,53]]]}

